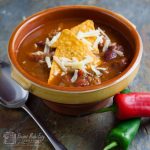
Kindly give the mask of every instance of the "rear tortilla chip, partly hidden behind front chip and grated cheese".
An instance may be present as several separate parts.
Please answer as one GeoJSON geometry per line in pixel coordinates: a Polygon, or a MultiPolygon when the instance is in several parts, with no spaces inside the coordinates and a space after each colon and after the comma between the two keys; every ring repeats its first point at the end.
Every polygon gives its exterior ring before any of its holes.
{"type": "MultiPolygon", "coordinates": [[[[81,24],[73,27],[70,29],[72,31],[72,33],[74,33],[75,35],[77,35],[77,33],[79,31],[81,32],[88,32],[90,30],[95,30],[95,27],[94,27],[94,22],[92,20],[86,20],[84,22],[82,22],[81,24]]],[[[96,37],[88,37],[88,38],[85,38],[87,39],[89,42],[91,42],[92,44],[94,44],[95,40],[96,40],[96,37]]],[[[57,40],[59,41],[59,39],[57,40]]],[[[52,47],[57,47],[58,45],[58,42],[55,42],[52,47]]],[[[94,53],[98,54],[99,53],[99,50],[98,48],[95,48],[93,50],[94,53]]]]}

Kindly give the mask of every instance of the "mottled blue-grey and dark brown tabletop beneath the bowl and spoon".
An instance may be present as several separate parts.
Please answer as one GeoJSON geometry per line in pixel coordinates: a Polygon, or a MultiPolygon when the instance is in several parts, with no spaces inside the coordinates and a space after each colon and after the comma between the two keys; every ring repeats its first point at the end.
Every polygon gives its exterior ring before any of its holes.
{"type": "MultiPolygon", "coordinates": [[[[67,4],[96,5],[131,20],[142,37],[144,54],[140,71],[131,84],[133,91],[150,91],[150,0],[0,0],[0,59],[8,61],[7,43],[14,27],[40,10],[67,4]]],[[[1,86],[1,85],[0,85],[1,86]]],[[[42,101],[29,98],[29,106],[68,150],[102,150],[107,132],[116,124],[112,113],[86,117],[61,116],[42,101]]],[[[49,142],[21,109],[0,106],[0,150],[51,150],[49,142]]],[[[150,150],[150,120],[142,121],[129,150],[150,150]]]]}

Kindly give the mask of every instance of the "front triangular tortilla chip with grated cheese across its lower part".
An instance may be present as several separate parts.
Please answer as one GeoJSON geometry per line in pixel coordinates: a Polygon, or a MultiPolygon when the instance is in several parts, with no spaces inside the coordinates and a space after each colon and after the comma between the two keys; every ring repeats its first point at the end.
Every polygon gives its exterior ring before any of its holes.
{"type": "MultiPolygon", "coordinates": [[[[57,41],[55,56],[66,57],[69,59],[72,59],[72,57],[76,57],[79,61],[85,59],[86,56],[91,56],[94,60],[94,64],[100,63],[100,59],[97,58],[90,50],[88,50],[87,45],[77,39],[77,37],[68,29],[62,31],[59,40],[57,41]]],[[[48,84],[58,83],[59,81],[57,76],[60,76],[61,73],[61,68],[55,61],[53,61],[48,84]]]]}

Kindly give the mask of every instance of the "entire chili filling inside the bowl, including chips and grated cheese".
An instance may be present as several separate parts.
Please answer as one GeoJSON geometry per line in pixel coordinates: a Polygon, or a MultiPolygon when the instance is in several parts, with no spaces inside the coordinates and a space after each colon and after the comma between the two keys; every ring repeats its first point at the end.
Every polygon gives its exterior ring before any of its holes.
{"type": "Polygon", "coordinates": [[[120,33],[98,22],[94,22],[94,29],[73,33],[74,27],[78,25],[80,29],[85,25],[86,28],[87,22],[92,24],[93,21],[62,19],[41,25],[20,44],[17,53],[19,64],[28,74],[49,85],[99,85],[119,75],[132,58],[129,43],[120,33]],[[65,44],[59,42],[65,36],[68,36],[65,44]],[[65,49],[72,38],[84,48],[84,57],[81,58],[82,47],[78,50],[75,44],[65,49]],[[56,46],[51,47],[51,43],[56,46]],[[68,53],[70,49],[72,54],[68,53]]]}

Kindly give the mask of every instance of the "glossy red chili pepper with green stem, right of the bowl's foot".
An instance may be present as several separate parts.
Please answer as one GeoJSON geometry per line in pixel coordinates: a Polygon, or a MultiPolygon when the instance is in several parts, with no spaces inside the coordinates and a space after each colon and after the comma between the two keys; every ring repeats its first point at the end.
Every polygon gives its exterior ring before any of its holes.
{"type": "Polygon", "coordinates": [[[113,111],[120,120],[150,117],[150,93],[127,93],[114,96],[114,104],[96,112],[113,111]]]}

